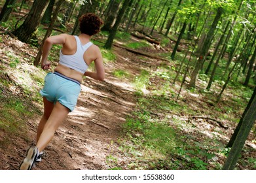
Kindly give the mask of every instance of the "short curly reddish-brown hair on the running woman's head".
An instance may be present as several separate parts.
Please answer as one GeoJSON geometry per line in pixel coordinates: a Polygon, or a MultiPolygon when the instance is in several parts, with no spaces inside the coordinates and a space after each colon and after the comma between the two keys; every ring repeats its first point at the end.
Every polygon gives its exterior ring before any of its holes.
{"type": "Polygon", "coordinates": [[[101,18],[92,12],[83,14],[79,18],[79,22],[79,29],[81,33],[86,35],[95,35],[96,33],[100,32],[100,27],[103,24],[101,18]]]}

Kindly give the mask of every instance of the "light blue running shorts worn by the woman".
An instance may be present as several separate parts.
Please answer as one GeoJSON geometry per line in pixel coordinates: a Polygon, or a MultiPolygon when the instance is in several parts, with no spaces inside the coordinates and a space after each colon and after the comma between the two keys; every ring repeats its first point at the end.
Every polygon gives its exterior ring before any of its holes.
{"type": "Polygon", "coordinates": [[[48,73],[45,76],[45,86],[40,90],[40,93],[48,101],[54,103],[58,101],[69,108],[71,112],[74,110],[75,105],[77,105],[81,86],[79,82],[73,81],[71,78],[67,78],[60,73],[57,74],[48,73]]]}

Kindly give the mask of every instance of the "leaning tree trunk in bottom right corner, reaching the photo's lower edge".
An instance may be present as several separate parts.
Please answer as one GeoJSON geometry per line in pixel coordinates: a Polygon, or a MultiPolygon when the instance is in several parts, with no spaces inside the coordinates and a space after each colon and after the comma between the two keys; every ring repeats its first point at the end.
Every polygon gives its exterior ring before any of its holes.
{"type": "MultiPolygon", "coordinates": [[[[256,88],[255,88],[256,90],[256,88]]],[[[255,92],[254,92],[255,93],[255,92]]],[[[238,161],[238,157],[242,151],[242,148],[244,147],[244,144],[246,143],[246,139],[249,135],[249,132],[251,131],[251,128],[253,127],[253,124],[256,120],[256,96],[253,95],[250,99],[251,104],[248,103],[247,105],[247,111],[245,110],[244,119],[242,120],[242,124],[240,126],[240,129],[238,131],[238,134],[236,136],[236,139],[234,140],[234,144],[232,145],[232,148],[230,149],[229,155],[227,157],[227,160],[225,161],[223,165],[223,170],[232,170],[234,169],[236,162],[238,161]]]]}

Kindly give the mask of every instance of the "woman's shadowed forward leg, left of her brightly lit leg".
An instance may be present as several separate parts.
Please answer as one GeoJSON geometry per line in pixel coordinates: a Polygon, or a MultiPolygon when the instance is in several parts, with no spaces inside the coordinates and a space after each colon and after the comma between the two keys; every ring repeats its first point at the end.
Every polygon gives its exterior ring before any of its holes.
{"type": "Polygon", "coordinates": [[[47,99],[45,97],[43,97],[43,101],[44,101],[44,114],[39,122],[38,128],[37,128],[37,141],[39,140],[39,137],[45,127],[45,124],[48,120],[48,118],[50,117],[50,114],[52,113],[52,109],[54,107],[54,103],[47,101],[47,99]]]}

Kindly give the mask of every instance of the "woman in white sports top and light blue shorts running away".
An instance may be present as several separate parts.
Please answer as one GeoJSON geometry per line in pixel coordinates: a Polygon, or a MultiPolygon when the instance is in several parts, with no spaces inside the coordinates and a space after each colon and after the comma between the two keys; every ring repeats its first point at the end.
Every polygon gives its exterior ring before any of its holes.
{"type": "Polygon", "coordinates": [[[103,22],[93,13],[83,14],[79,22],[81,33],[78,36],[60,34],[48,37],[43,46],[42,69],[50,69],[51,63],[47,58],[53,44],[62,44],[60,61],[54,73],[45,76],[45,85],[40,91],[44,113],[37,129],[37,143],[27,150],[26,158],[19,167],[21,170],[31,169],[35,161],[41,158],[41,153],[54,137],[55,131],[67,114],[74,110],[83,76],[100,81],[105,78],[100,48],[90,42],[91,37],[100,32],[103,22]],[[96,72],[87,71],[93,61],[96,72]]]}

